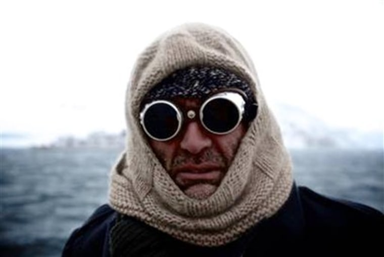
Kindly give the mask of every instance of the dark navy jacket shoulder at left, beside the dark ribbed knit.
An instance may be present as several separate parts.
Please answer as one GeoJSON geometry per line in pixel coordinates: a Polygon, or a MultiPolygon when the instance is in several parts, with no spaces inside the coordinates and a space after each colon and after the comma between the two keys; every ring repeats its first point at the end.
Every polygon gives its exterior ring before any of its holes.
{"type": "Polygon", "coordinates": [[[104,204],[87,221],[75,229],[65,244],[62,256],[109,256],[108,234],[116,211],[104,204]]]}

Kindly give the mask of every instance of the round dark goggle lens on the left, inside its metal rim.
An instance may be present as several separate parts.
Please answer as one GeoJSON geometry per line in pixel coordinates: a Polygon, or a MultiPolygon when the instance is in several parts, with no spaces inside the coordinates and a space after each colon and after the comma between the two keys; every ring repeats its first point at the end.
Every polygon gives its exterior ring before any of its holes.
{"type": "Polygon", "coordinates": [[[167,139],[173,136],[178,127],[177,112],[165,103],[152,105],[144,116],[144,125],[152,137],[167,139]]]}

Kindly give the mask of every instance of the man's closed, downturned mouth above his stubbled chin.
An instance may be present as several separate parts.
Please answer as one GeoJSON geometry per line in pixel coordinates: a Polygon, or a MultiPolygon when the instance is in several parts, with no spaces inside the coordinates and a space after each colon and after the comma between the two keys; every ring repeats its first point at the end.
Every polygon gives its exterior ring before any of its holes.
{"type": "Polygon", "coordinates": [[[210,164],[183,165],[175,168],[172,174],[173,180],[182,190],[197,184],[218,186],[224,176],[222,167],[210,164]]]}

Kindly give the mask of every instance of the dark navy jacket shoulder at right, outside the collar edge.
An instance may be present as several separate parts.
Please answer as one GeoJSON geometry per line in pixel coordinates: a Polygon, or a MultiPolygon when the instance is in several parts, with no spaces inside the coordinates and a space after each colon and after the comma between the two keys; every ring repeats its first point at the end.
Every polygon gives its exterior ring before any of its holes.
{"type": "MultiPolygon", "coordinates": [[[[367,205],[325,197],[299,188],[308,246],[338,249],[339,253],[380,249],[384,215],[367,205]],[[381,236],[380,236],[381,235],[381,236]]],[[[321,250],[319,249],[321,252],[321,250]]]]}

